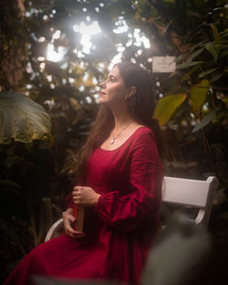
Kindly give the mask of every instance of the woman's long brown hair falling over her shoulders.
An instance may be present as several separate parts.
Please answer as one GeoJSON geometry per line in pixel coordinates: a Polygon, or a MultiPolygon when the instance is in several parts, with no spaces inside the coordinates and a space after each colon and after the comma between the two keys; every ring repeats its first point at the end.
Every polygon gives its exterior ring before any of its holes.
{"type": "MultiPolygon", "coordinates": [[[[136,94],[131,96],[127,102],[130,115],[139,124],[150,127],[156,137],[160,156],[162,156],[161,128],[158,121],[153,119],[155,98],[152,91],[150,73],[143,67],[131,62],[123,62],[117,66],[119,67],[119,74],[123,78],[125,87],[136,87],[137,89],[136,94]]],[[[88,158],[109,137],[113,127],[114,117],[109,107],[101,106],[88,140],[82,148],[78,167],[78,181],[80,183],[85,183],[86,181],[86,163],[88,158]]]]}

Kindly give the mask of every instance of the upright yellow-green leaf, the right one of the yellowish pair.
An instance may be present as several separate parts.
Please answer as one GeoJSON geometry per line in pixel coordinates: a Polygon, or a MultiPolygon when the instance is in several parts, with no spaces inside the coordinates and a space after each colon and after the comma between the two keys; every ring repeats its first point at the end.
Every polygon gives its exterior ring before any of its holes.
{"type": "Polygon", "coordinates": [[[190,102],[194,112],[201,112],[202,105],[204,104],[207,97],[208,89],[209,81],[206,79],[203,79],[200,84],[191,88],[190,102]]]}

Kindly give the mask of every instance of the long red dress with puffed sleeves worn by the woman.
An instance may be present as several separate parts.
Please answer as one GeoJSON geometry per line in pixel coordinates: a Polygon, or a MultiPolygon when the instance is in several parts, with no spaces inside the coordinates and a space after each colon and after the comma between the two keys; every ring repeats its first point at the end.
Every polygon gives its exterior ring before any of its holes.
{"type": "MultiPolygon", "coordinates": [[[[139,127],[115,150],[96,149],[87,164],[87,186],[101,196],[96,208],[86,209],[86,238],[63,233],[39,245],[5,285],[31,284],[34,274],[138,284],[160,227],[161,179],[161,160],[148,127],[139,127]]],[[[72,205],[68,198],[67,207],[72,205]]]]}

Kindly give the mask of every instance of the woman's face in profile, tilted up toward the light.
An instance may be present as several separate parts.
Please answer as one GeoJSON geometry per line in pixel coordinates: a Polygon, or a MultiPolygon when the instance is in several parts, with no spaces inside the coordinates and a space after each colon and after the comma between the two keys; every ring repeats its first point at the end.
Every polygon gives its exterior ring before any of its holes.
{"type": "Polygon", "coordinates": [[[126,88],[124,87],[123,78],[119,74],[119,67],[114,66],[109,72],[108,78],[99,85],[100,104],[109,107],[119,107],[119,104],[126,104],[126,88]]]}

